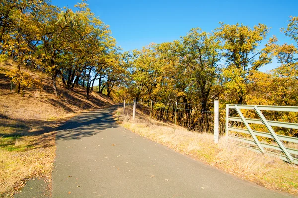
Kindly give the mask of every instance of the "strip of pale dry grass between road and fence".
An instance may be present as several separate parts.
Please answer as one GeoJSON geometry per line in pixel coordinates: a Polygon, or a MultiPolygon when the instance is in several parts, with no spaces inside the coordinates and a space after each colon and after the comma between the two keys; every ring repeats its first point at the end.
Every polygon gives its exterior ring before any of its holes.
{"type": "Polygon", "coordinates": [[[180,127],[174,131],[173,127],[163,126],[159,122],[150,125],[149,118],[140,112],[137,112],[134,123],[130,113],[123,116],[123,108],[117,110],[116,117],[122,126],[180,153],[261,186],[298,195],[296,165],[250,151],[224,137],[220,137],[219,144],[214,144],[213,134],[210,133],[195,133],[180,127]]]}

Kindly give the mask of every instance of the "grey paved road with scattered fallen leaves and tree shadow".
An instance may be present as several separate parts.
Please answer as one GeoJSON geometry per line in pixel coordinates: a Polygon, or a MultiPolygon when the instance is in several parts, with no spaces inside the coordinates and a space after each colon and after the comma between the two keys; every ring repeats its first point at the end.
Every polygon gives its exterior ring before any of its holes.
{"type": "Polygon", "coordinates": [[[117,125],[115,107],[83,113],[57,134],[53,198],[284,198],[117,125]]]}

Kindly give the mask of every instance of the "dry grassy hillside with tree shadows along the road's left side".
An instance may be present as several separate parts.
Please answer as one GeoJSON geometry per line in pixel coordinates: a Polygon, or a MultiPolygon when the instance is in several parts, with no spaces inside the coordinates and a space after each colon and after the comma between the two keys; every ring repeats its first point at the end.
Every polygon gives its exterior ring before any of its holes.
{"type": "Polygon", "coordinates": [[[5,74],[14,69],[13,62],[0,64],[0,197],[11,196],[26,180],[44,178],[51,181],[55,157],[55,128],[75,113],[114,104],[112,99],[74,87],[64,89],[58,80],[58,98],[52,94],[51,79],[25,68],[41,80],[42,89],[27,89],[25,97],[14,93],[11,79],[5,74]]]}

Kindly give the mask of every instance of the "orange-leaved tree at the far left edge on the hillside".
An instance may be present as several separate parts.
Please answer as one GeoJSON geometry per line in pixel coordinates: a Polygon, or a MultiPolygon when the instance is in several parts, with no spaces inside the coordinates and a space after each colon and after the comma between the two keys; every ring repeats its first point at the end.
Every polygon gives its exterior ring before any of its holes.
{"type": "Polygon", "coordinates": [[[15,91],[17,93],[21,91],[22,96],[25,86],[21,85],[31,83],[29,80],[27,83],[24,82],[29,78],[26,78],[27,74],[20,71],[21,66],[33,64],[35,60],[32,54],[38,44],[35,33],[38,29],[33,18],[39,16],[40,10],[45,5],[47,2],[43,0],[3,0],[0,3],[0,60],[10,57],[16,61],[17,70],[13,70],[15,73],[11,75],[15,76],[15,91]]]}

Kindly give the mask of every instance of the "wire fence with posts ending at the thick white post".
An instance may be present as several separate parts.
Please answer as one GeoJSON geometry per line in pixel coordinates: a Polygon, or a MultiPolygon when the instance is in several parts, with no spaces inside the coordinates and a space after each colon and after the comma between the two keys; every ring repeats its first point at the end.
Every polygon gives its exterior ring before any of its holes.
{"type": "Polygon", "coordinates": [[[126,105],[125,109],[132,110],[135,120],[136,110],[149,116],[150,123],[159,121],[159,124],[172,124],[174,130],[184,127],[191,131],[213,132],[214,142],[218,143],[219,138],[219,103],[218,101],[191,104],[191,103],[161,103],[161,102],[139,102],[126,105]],[[208,110],[207,110],[208,109],[208,110]]]}

